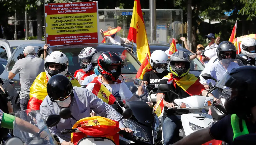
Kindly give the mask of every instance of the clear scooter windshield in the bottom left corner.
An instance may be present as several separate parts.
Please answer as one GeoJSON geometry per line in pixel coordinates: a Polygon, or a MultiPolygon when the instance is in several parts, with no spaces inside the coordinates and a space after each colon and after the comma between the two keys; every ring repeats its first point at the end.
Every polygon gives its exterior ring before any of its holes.
{"type": "Polygon", "coordinates": [[[13,135],[25,144],[57,145],[44,118],[35,110],[24,110],[15,114],[13,135]]]}

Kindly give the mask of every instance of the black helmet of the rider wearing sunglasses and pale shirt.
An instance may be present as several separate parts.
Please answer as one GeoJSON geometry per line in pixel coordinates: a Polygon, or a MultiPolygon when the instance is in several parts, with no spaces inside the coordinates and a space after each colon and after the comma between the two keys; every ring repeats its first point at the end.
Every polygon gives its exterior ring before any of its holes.
{"type": "Polygon", "coordinates": [[[219,60],[226,59],[224,51],[233,51],[232,58],[236,58],[237,49],[233,43],[229,41],[221,42],[217,47],[217,56],[219,60]]]}

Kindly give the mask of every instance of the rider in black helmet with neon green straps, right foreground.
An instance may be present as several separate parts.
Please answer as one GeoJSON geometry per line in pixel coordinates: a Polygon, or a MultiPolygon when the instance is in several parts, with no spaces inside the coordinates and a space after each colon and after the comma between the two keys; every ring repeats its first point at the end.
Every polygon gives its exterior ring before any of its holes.
{"type": "Polygon", "coordinates": [[[231,97],[224,103],[228,115],[211,128],[196,131],[175,145],[203,144],[212,139],[223,140],[232,145],[236,137],[255,133],[255,74],[256,67],[254,66],[241,66],[226,73],[216,86],[231,94],[231,97]]]}

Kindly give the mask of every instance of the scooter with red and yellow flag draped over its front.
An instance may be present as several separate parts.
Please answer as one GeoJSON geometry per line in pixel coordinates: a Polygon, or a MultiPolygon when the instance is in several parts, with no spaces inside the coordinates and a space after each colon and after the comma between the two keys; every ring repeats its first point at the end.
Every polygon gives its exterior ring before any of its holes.
{"type": "MultiPolygon", "coordinates": [[[[74,142],[75,145],[115,145],[119,142],[119,140],[116,140],[116,137],[119,136],[117,133],[128,134],[118,128],[118,122],[122,119],[131,118],[132,114],[131,109],[125,109],[119,121],[113,121],[101,116],[86,117],[78,120],[72,129],[62,130],[61,134],[71,133],[71,142],[74,142]]],[[[63,119],[72,118],[76,120],[69,108],[62,108],[60,116],[63,119]]]]}

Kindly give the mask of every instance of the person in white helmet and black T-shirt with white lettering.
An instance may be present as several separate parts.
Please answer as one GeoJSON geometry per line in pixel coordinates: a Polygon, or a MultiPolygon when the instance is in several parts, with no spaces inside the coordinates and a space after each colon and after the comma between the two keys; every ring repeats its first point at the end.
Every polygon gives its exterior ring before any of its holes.
{"type": "Polygon", "coordinates": [[[167,71],[168,63],[168,56],[162,50],[155,50],[150,56],[150,65],[153,70],[144,74],[143,81],[146,85],[154,85],[154,93],[157,92],[159,81],[169,73],[167,71]]]}

